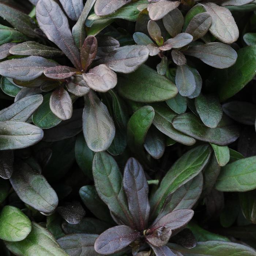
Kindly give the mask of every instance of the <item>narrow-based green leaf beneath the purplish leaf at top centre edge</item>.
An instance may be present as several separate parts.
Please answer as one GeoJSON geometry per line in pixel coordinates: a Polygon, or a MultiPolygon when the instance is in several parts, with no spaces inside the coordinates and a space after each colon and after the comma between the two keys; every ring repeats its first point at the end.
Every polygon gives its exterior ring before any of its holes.
{"type": "Polygon", "coordinates": [[[105,15],[105,16],[97,16],[95,13],[91,14],[88,19],[89,20],[99,20],[99,19],[124,19],[135,22],[139,16],[140,11],[138,10],[138,6],[140,4],[147,3],[146,0],[139,0],[137,2],[127,4],[113,14],[105,15]]]}

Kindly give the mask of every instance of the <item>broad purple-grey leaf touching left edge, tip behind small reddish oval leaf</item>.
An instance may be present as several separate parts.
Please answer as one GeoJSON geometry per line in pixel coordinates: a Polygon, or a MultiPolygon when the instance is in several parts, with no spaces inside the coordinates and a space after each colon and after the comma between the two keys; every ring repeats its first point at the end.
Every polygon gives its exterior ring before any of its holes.
{"type": "Polygon", "coordinates": [[[56,63],[39,56],[5,60],[0,63],[0,75],[19,81],[30,81],[41,76],[45,68],[55,66],[56,63]]]}

